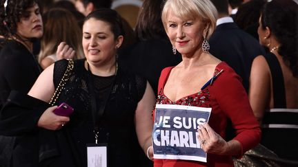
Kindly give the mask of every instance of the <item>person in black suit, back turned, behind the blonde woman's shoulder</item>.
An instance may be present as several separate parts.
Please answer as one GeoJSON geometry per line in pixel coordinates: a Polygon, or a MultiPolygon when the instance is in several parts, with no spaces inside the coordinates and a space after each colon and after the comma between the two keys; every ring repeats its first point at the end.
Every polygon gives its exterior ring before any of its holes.
{"type": "Polygon", "coordinates": [[[225,61],[241,76],[248,93],[250,68],[256,56],[264,55],[259,41],[239,29],[228,14],[228,0],[212,0],[217,8],[219,19],[217,28],[210,37],[210,53],[225,61]]]}

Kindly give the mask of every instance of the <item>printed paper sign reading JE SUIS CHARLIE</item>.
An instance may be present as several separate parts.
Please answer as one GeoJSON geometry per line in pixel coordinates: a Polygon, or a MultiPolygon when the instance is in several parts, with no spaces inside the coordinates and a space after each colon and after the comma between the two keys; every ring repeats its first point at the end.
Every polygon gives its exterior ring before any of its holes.
{"type": "Polygon", "coordinates": [[[157,104],[152,134],[154,158],[207,162],[197,129],[208,122],[210,112],[211,108],[157,104]]]}

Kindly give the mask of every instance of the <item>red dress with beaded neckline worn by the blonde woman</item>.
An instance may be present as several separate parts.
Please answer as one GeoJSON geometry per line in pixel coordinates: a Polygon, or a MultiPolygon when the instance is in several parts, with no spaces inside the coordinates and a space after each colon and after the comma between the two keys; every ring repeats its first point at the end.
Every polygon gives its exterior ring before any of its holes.
{"type": "MultiPolygon", "coordinates": [[[[215,75],[224,69],[221,74],[198,93],[186,96],[172,102],[163,94],[163,87],[173,67],[167,67],[159,78],[159,96],[157,104],[180,104],[195,107],[211,107],[208,124],[221,137],[225,138],[227,120],[232,121],[236,131],[234,140],[241,144],[241,155],[259,144],[261,129],[252,113],[248,96],[241,84],[241,78],[226,63],[221,62],[215,68],[215,75]]],[[[154,119],[153,119],[154,120],[154,119]]],[[[239,155],[239,157],[241,157],[239,155]]],[[[191,166],[234,166],[232,157],[228,155],[207,155],[207,162],[195,162],[175,159],[154,159],[155,167],[191,167],[191,166]]]]}

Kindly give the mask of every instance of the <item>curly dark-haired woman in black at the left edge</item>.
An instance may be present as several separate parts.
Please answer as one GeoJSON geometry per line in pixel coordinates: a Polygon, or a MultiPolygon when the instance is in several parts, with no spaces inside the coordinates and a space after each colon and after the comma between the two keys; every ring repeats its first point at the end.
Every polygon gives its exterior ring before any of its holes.
{"type": "MultiPolygon", "coordinates": [[[[32,47],[35,39],[43,35],[43,22],[39,5],[34,0],[2,0],[0,16],[0,34],[5,38],[0,53],[1,107],[10,91],[28,93],[41,73],[32,47]]],[[[0,166],[9,166],[14,139],[0,136],[0,166]]],[[[19,141],[22,141],[20,137],[15,140],[16,143],[19,141]]],[[[17,146],[14,147],[14,150],[17,149],[17,146]]],[[[23,157],[28,154],[30,150],[23,157]]]]}

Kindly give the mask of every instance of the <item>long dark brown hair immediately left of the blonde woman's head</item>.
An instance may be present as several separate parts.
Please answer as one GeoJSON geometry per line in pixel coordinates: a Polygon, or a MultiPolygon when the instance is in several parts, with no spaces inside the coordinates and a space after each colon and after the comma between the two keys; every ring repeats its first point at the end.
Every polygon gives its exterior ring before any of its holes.
{"type": "Polygon", "coordinates": [[[161,21],[161,8],[161,0],[143,1],[135,27],[139,41],[167,38],[161,21]]]}

